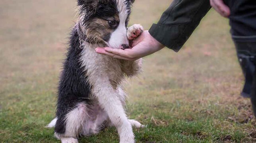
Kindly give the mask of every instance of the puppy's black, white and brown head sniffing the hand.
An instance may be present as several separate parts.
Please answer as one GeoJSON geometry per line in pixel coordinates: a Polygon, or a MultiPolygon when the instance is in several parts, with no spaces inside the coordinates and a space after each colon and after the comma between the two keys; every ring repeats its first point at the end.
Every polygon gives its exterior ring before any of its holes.
{"type": "Polygon", "coordinates": [[[130,9],[134,0],[78,0],[84,34],[109,47],[129,45],[126,36],[130,9]]]}

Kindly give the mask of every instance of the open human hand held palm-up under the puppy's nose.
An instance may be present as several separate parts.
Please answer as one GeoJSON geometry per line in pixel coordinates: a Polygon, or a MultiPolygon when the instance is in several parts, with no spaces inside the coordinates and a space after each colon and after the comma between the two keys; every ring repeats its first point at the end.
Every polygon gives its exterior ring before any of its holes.
{"type": "Polygon", "coordinates": [[[153,38],[146,30],[142,34],[132,41],[132,49],[114,49],[111,47],[96,48],[96,52],[99,54],[109,55],[113,58],[119,58],[124,60],[137,60],[144,56],[155,53],[161,50],[164,45],[159,43],[153,38]]]}

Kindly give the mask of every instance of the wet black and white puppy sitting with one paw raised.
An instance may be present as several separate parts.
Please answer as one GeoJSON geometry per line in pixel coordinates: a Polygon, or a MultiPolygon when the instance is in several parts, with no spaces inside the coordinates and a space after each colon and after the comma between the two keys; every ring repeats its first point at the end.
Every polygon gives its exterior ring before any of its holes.
{"type": "Polygon", "coordinates": [[[125,93],[120,84],[125,75],[141,71],[142,59],[119,60],[95,52],[96,47],[126,49],[138,37],[142,26],[127,29],[134,0],[78,0],[80,16],[70,36],[70,46],[58,87],[55,136],[63,143],[77,143],[79,135],[97,134],[115,126],[120,143],[134,143],[132,126],[140,122],[127,118],[125,93]]]}

